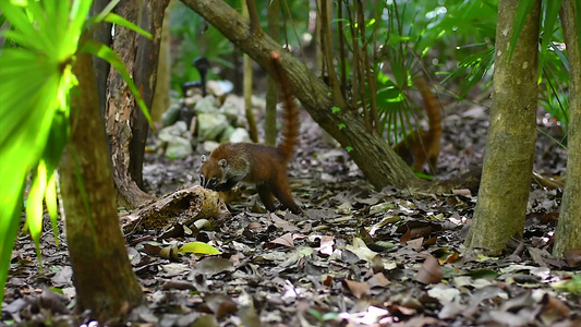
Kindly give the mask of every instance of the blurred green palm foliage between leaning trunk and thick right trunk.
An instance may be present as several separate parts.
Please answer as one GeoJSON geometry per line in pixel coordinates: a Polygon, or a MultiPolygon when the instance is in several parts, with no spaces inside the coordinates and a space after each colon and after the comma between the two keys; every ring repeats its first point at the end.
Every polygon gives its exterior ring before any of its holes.
{"type": "MultiPolygon", "coordinates": [[[[365,22],[373,28],[367,28],[365,37],[356,41],[374,59],[372,69],[377,80],[374,94],[366,81],[365,97],[366,104],[375,97],[388,140],[397,143],[406,137],[415,128],[412,117],[423,116],[411,96],[415,76],[434,81],[434,74],[449,74],[461,61],[461,69],[452,76],[468,74],[460,96],[483,78],[491,78],[487,73],[496,31],[496,0],[388,1],[379,4],[380,15],[375,14],[375,4],[366,3],[365,22]]],[[[344,22],[344,38],[349,49],[353,49],[350,26],[356,24],[344,22]]]]}

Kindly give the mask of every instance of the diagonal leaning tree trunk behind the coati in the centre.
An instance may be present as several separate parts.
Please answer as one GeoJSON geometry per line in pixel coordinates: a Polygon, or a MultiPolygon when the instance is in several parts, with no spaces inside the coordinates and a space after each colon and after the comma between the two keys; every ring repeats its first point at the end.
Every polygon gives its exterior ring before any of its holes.
{"type": "Polygon", "coordinates": [[[336,104],[329,96],[329,87],[320,78],[314,76],[305,64],[266,34],[251,33],[249,22],[234,9],[217,0],[182,2],[218,28],[264,69],[270,70],[270,51],[279,52],[293,94],[311,117],[349,152],[375,187],[394,185],[413,189],[422,184],[380,135],[365,130],[361,117],[350,110],[332,110],[336,104]]]}

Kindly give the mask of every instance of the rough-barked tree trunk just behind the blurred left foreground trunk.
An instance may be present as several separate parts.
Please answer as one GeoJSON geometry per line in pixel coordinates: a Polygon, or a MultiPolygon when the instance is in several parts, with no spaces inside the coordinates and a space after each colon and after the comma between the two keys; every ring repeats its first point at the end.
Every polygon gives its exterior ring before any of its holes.
{"type": "MultiPolygon", "coordinates": [[[[112,48],[125,63],[145,105],[152,108],[157,80],[157,63],[164,11],[169,0],[121,1],[116,13],[152,33],[154,40],[116,27],[112,48]],[[137,16],[141,21],[137,22],[137,16]]],[[[118,191],[118,205],[137,207],[155,197],[143,192],[143,156],[149,129],[121,75],[111,70],[108,80],[109,106],[107,108],[107,134],[111,140],[113,179],[118,191]]]]}

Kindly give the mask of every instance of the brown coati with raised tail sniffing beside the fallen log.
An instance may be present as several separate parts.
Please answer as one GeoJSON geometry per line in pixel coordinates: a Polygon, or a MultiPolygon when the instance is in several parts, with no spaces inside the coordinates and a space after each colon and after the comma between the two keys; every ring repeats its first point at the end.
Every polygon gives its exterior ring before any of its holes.
{"type": "Polygon", "coordinates": [[[287,164],[294,153],[299,133],[299,110],[294,104],[280,64],[280,55],[270,52],[275,80],[278,80],[285,107],[282,141],[277,147],[256,143],[223,143],[209,157],[202,156],[199,180],[202,186],[228,191],[238,182],[256,184],[266,209],[275,211],[273,195],[283,207],[298,214],[300,207],[291,195],[287,164]]]}

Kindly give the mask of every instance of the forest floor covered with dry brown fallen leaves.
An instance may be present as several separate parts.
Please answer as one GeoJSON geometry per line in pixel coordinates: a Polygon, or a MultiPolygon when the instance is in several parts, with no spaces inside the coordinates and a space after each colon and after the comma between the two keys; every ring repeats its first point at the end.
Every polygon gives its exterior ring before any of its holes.
{"type": "MultiPolygon", "coordinates": [[[[446,109],[438,178],[482,164],[488,112],[476,105],[446,109]]],[[[560,190],[531,185],[524,238],[504,255],[468,252],[475,196],[374,190],[348,154],[302,118],[289,173],[304,215],[266,214],[247,187],[232,216],[213,228],[149,234],[146,242],[131,235],[145,301],[121,325],[581,326],[581,281],[549,254],[560,190]],[[193,241],[221,254],[150,251],[193,241]]],[[[538,116],[540,128],[555,133],[547,121],[538,116]]],[[[198,158],[147,154],[150,193],[198,183],[198,158]]],[[[565,165],[565,152],[538,133],[535,171],[559,175],[565,165]]],[[[59,246],[47,226],[44,275],[29,238],[17,239],[0,325],[95,326],[74,312],[66,242],[58,238],[59,246]]]]}

